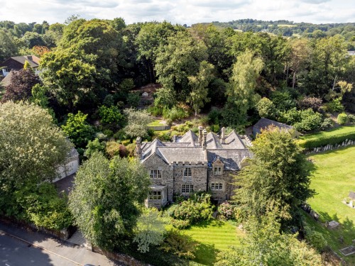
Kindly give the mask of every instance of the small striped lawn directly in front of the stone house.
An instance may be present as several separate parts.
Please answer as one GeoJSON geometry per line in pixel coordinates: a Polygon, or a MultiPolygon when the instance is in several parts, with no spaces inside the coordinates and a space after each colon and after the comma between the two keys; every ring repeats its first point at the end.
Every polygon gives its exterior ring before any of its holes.
{"type": "Polygon", "coordinates": [[[244,236],[236,226],[219,220],[203,222],[182,232],[200,243],[194,260],[200,265],[213,265],[219,250],[226,250],[230,245],[239,245],[244,236]]]}

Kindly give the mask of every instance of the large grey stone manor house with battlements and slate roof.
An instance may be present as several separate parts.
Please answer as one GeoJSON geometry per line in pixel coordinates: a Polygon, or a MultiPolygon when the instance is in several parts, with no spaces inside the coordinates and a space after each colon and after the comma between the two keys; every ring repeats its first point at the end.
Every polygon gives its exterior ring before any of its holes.
{"type": "Polygon", "coordinates": [[[136,155],[151,176],[151,192],[147,206],[160,207],[173,201],[174,195],[190,192],[212,192],[219,203],[231,199],[234,192],[232,175],[238,174],[244,160],[251,157],[251,141],[232,131],[221,135],[207,133],[202,127],[197,136],[187,131],[173,142],[158,139],[148,143],[136,141],[136,155]]]}

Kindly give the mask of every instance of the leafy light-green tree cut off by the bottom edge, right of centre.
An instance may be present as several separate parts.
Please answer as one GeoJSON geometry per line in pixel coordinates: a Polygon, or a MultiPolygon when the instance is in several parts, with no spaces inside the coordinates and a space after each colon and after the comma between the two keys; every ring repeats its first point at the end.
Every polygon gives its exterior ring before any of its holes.
{"type": "Polygon", "coordinates": [[[259,220],[253,217],[244,225],[241,245],[219,253],[215,266],[322,265],[321,256],[297,235],[280,233],[280,223],[272,214],[259,220]]]}

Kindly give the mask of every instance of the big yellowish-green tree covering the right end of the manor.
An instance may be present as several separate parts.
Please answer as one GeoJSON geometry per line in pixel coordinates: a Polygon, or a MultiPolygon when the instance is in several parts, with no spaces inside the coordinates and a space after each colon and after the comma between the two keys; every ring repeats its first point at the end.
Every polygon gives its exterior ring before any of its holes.
{"type": "Polygon", "coordinates": [[[235,177],[234,199],[248,215],[262,216],[277,208],[283,226],[299,226],[299,206],[315,192],[301,148],[288,131],[268,128],[258,135],[248,160],[235,177]]]}

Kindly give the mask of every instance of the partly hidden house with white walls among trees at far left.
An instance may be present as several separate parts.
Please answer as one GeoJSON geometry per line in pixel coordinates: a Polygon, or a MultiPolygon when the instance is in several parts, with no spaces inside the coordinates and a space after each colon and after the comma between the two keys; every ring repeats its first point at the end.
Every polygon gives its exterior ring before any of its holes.
{"type": "Polygon", "coordinates": [[[23,55],[9,57],[4,62],[1,62],[0,69],[2,68],[2,75],[6,77],[7,74],[9,74],[11,71],[22,70],[26,61],[28,61],[28,63],[31,65],[31,67],[35,71],[35,74],[38,74],[40,72],[38,70],[38,66],[40,65],[40,59],[35,55],[23,55]]]}

